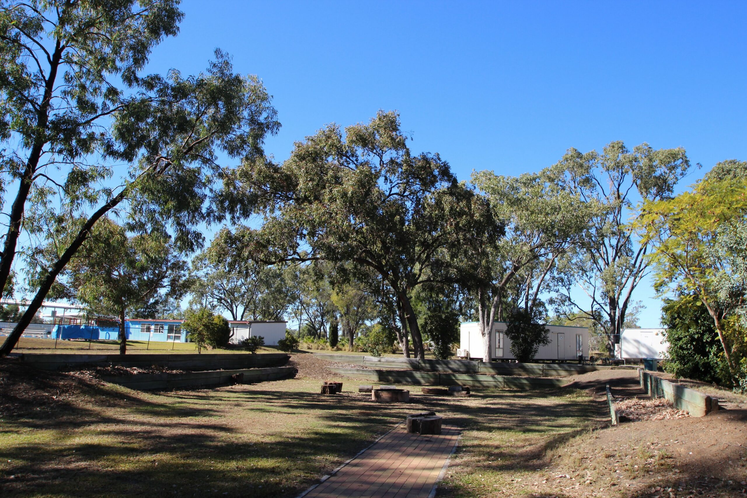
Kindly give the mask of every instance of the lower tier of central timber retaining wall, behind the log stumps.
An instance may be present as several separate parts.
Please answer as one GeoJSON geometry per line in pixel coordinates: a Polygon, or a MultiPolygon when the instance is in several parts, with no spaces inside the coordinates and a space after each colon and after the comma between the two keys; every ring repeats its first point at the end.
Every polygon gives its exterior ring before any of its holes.
{"type": "Polygon", "coordinates": [[[368,382],[412,385],[465,385],[514,389],[543,389],[568,384],[564,379],[537,379],[519,376],[494,376],[479,373],[418,372],[412,370],[373,370],[367,368],[329,368],[332,372],[368,382]]]}

